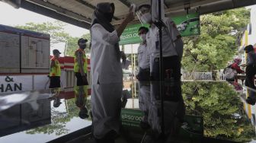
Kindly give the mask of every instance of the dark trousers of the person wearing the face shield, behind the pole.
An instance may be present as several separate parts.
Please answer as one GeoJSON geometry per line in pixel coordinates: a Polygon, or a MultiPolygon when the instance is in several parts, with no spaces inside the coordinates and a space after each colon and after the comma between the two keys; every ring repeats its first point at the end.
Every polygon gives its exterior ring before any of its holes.
{"type": "MultiPolygon", "coordinates": [[[[159,58],[155,58],[152,69],[152,76],[154,81],[159,81],[159,58]]],[[[181,81],[181,61],[178,56],[168,56],[163,58],[163,71],[164,80],[174,78],[174,81],[181,81]],[[171,72],[171,73],[170,73],[171,72]]]]}

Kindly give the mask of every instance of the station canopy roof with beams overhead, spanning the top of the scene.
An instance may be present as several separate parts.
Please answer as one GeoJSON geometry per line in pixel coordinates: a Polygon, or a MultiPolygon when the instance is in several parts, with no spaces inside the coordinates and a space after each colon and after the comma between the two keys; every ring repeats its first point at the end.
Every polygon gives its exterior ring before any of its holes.
{"type": "MultiPolygon", "coordinates": [[[[91,15],[95,6],[100,2],[114,2],[116,7],[114,13],[114,25],[120,24],[129,11],[131,4],[149,4],[149,0],[0,0],[14,6],[24,8],[53,17],[59,21],[69,24],[90,28],[91,15]]],[[[240,8],[248,5],[255,5],[256,0],[165,0],[166,17],[186,14],[185,8],[190,11],[199,11],[200,14],[208,14],[216,11],[223,11],[232,8],[240,8]]],[[[139,21],[135,20],[134,23],[139,21]]]]}

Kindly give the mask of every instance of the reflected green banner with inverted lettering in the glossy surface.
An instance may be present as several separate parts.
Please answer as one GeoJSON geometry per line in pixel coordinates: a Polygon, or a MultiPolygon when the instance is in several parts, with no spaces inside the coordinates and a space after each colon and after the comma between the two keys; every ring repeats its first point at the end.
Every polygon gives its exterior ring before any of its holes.
{"type": "Polygon", "coordinates": [[[142,121],[143,116],[144,113],[142,112],[142,110],[122,109],[122,125],[130,127],[139,127],[139,123],[142,121]]]}

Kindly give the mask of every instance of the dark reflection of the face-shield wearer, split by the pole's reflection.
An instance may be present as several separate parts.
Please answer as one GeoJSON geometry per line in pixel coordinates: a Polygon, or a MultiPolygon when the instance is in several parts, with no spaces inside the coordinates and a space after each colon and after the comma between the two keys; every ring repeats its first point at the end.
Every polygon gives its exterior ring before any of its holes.
{"type": "MultiPolygon", "coordinates": [[[[169,84],[169,83],[165,83],[169,84]]],[[[181,84],[179,85],[181,86],[181,84]]],[[[150,105],[149,105],[149,125],[156,135],[162,133],[162,113],[161,113],[161,99],[159,96],[159,83],[151,82],[150,84],[150,105]]],[[[165,120],[165,135],[177,135],[178,129],[184,122],[185,107],[182,95],[174,91],[171,94],[165,88],[164,96],[164,120],[165,120]],[[175,94],[175,95],[174,95],[175,94]]]]}

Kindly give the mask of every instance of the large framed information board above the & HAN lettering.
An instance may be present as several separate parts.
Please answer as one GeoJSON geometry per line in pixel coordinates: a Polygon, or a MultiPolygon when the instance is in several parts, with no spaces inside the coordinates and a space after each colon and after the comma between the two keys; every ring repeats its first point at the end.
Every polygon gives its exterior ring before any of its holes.
{"type": "Polygon", "coordinates": [[[48,74],[50,35],[0,24],[0,74],[48,74]]]}

